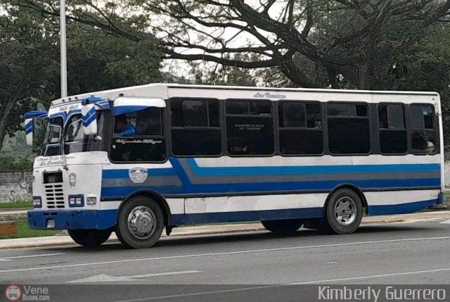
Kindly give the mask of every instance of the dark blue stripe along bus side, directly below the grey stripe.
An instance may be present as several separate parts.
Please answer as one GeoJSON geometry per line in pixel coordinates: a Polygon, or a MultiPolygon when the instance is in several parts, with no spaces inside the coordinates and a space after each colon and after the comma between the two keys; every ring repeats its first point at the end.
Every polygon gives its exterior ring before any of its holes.
{"type": "Polygon", "coordinates": [[[191,184],[183,181],[183,187],[178,186],[133,186],[133,187],[102,187],[102,198],[128,196],[139,189],[158,191],[160,194],[195,194],[195,193],[244,193],[258,191],[301,191],[334,189],[341,184],[353,184],[361,189],[379,189],[394,187],[439,187],[439,178],[426,179],[396,179],[396,180],[332,180],[315,182],[254,182],[229,184],[191,184]]]}

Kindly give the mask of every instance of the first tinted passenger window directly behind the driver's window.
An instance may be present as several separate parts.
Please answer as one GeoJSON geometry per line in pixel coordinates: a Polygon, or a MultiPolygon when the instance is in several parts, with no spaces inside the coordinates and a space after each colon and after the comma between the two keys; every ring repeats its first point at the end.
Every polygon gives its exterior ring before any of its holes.
{"type": "Polygon", "coordinates": [[[172,152],[179,156],[219,155],[219,101],[172,100],[172,152]]]}

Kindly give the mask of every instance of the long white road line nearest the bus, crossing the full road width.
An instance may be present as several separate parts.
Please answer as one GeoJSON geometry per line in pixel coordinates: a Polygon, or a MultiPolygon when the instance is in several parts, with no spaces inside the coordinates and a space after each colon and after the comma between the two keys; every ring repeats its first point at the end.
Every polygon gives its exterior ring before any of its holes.
{"type": "Polygon", "coordinates": [[[15,270],[0,270],[0,273],[2,273],[2,272],[25,272],[25,271],[30,271],[30,270],[51,270],[54,268],[76,268],[76,267],[89,266],[89,265],[132,263],[132,262],[151,261],[151,260],[166,260],[166,259],[192,258],[192,257],[203,257],[203,256],[221,256],[221,255],[233,255],[233,254],[240,254],[240,253],[263,253],[263,252],[268,252],[268,251],[288,251],[288,250],[299,250],[299,249],[304,249],[304,248],[326,248],[326,247],[333,247],[333,246],[354,246],[354,245],[360,245],[360,244],[383,244],[383,243],[389,243],[389,242],[425,241],[425,240],[442,240],[442,239],[450,239],[450,236],[388,239],[388,240],[376,240],[376,241],[357,241],[357,242],[347,242],[347,243],[343,243],[343,244],[319,244],[319,245],[314,245],[314,246],[289,246],[289,247],[285,247],[285,248],[262,248],[262,249],[258,249],[258,250],[229,251],[229,252],[218,252],[218,253],[198,253],[198,254],[188,254],[188,255],[179,255],[179,256],[162,256],[162,257],[153,257],[153,258],[136,258],[136,259],[113,260],[113,261],[103,261],[103,262],[94,262],[94,263],[76,263],[76,264],[67,264],[67,265],[41,266],[39,268],[18,268],[15,270]]]}

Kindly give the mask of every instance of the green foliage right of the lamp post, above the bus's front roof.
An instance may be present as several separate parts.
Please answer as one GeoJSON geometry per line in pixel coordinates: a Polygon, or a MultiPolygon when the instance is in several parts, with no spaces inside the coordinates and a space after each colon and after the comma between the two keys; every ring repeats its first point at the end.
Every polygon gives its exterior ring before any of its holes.
{"type": "Polygon", "coordinates": [[[69,94],[161,80],[155,39],[134,42],[81,23],[68,25],[69,94]]]}

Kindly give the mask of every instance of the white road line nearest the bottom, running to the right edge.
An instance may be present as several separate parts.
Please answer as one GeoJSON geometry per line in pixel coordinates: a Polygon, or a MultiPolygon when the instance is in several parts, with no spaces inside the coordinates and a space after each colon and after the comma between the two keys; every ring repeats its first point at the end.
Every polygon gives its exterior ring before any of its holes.
{"type": "Polygon", "coordinates": [[[148,298],[136,298],[130,300],[119,300],[115,302],[139,302],[139,301],[152,301],[157,299],[165,299],[165,298],[181,298],[188,296],[201,296],[207,294],[222,294],[229,293],[234,291],[251,291],[255,289],[271,289],[277,287],[291,287],[294,285],[304,285],[304,284],[323,284],[323,283],[332,283],[332,282],[342,282],[342,281],[354,281],[361,279],[375,279],[382,277],[396,277],[396,276],[405,276],[405,275],[419,275],[419,274],[428,274],[430,272],[446,272],[449,271],[450,268],[438,268],[436,270],[417,270],[413,272],[394,272],[392,274],[383,274],[383,275],[368,275],[368,276],[360,276],[360,277],[348,277],[348,278],[339,278],[339,279],[322,279],[322,280],[314,280],[307,282],[298,282],[298,283],[290,283],[290,284],[277,284],[277,285],[263,285],[261,287],[241,287],[239,289],[222,289],[219,291],[200,291],[196,293],[187,293],[187,294],[176,294],[169,296],[156,296],[156,297],[148,297],[148,298]]]}

